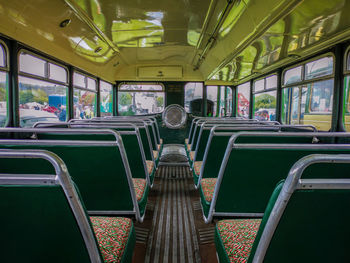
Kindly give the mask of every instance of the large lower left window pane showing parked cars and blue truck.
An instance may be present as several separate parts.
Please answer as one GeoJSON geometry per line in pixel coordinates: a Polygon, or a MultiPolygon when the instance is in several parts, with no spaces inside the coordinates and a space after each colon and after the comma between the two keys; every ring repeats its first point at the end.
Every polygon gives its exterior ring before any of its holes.
{"type": "Polygon", "coordinates": [[[19,77],[21,127],[39,121],[66,121],[67,88],[47,81],[19,77]]]}

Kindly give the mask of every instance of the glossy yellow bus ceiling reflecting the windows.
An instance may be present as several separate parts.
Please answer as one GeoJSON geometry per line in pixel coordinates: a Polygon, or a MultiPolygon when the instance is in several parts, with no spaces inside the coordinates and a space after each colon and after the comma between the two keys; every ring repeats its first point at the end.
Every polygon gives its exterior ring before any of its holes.
{"type": "Polygon", "coordinates": [[[182,77],[162,72],[154,80],[239,82],[347,37],[349,2],[0,0],[0,32],[108,81],[137,80],[145,66],[180,66],[182,77]]]}

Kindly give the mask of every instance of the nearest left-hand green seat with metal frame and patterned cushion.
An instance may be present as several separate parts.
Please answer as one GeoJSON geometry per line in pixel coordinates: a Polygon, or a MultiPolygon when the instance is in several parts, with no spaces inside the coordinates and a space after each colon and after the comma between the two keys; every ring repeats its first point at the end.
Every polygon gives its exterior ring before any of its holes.
{"type": "Polygon", "coordinates": [[[131,262],[132,221],[89,217],[57,155],[0,150],[0,167],[2,262],[131,262]]]}

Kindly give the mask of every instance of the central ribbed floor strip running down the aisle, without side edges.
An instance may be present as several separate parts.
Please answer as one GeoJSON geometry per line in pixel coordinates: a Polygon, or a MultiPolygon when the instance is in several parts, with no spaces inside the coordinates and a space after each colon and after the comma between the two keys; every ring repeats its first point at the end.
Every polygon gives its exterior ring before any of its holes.
{"type": "Polygon", "coordinates": [[[182,166],[158,169],[158,196],[154,206],[145,263],[201,262],[190,191],[190,171],[182,166]]]}

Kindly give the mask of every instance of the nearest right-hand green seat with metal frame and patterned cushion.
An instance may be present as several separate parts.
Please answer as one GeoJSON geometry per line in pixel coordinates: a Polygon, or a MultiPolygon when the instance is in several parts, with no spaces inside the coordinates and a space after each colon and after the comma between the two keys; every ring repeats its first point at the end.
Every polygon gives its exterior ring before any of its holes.
{"type": "Polygon", "coordinates": [[[220,262],[349,262],[349,169],[350,155],[302,158],[277,184],[262,219],[218,222],[220,262]],[[320,168],[328,179],[318,178],[320,168]]]}

